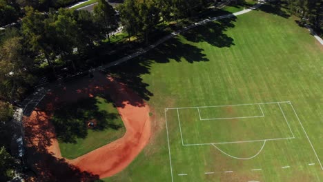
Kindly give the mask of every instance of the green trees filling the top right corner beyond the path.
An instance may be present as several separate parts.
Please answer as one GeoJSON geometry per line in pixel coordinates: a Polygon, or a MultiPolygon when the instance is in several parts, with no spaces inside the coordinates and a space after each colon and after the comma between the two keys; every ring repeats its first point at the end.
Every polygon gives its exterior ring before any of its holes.
{"type": "Polygon", "coordinates": [[[322,0],[282,0],[293,14],[300,17],[302,24],[308,24],[318,33],[323,33],[322,0]]]}

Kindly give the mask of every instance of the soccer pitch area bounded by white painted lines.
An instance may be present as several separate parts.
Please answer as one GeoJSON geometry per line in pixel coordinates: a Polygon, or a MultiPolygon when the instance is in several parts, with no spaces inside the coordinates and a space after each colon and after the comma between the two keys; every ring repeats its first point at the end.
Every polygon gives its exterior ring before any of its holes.
{"type": "Polygon", "coordinates": [[[288,168],[321,170],[290,101],[166,108],[165,114],[172,181],[221,180],[222,173],[230,173],[228,181],[239,175],[251,181],[288,168]]]}

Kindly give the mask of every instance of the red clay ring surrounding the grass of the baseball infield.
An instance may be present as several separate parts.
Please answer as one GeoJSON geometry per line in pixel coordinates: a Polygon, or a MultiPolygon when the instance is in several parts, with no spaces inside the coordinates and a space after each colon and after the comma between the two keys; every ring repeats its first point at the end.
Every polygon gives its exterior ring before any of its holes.
{"type": "Polygon", "coordinates": [[[135,92],[111,77],[95,72],[93,79],[80,79],[60,88],[53,88],[39,108],[25,119],[24,127],[27,151],[29,150],[28,162],[32,163],[37,174],[52,172],[46,175],[60,174],[63,175],[61,179],[72,180],[70,176],[75,172],[79,176],[75,180],[88,181],[91,178],[95,179],[95,176],[101,179],[124,170],[148,143],[151,123],[148,105],[135,92]],[[121,139],[77,159],[63,159],[55,138],[55,129],[49,121],[55,104],[61,101],[76,101],[82,97],[95,97],[98,94],[110,95],[124,121],[126,134],[121,139]],[[43,154],[44,152],[47,154],[43,154]],[[57,162],[53,165],[50,162],[52,159],[59,161],[59,165],[57,162]],[[61,163],[64,163],[64,166],[68,165],[72,170],[64,172],[63,168],[59,169],[61,163]],[[91,178],[86,179],[84,176],[91,178]]]}

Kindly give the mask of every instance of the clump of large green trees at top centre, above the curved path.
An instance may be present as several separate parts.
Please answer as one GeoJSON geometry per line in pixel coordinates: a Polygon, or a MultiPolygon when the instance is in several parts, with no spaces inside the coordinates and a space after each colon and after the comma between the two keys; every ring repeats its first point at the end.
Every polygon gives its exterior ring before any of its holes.
{"type": "Polygon", "coordinates": [[[148,42],[149,34],[161,21],[193,17],[211,0],[126,0],[118,7],[121,23],[130,35],[141,35],[148,42]]]}

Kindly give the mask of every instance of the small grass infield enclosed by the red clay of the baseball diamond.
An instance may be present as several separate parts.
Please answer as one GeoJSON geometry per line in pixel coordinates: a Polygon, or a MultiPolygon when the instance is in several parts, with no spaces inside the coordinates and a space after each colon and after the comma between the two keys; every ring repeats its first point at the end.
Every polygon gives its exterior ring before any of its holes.
{"type": "MultiPolygon", "coordinates": [[[[126,132],[126,128],[119,117],[117,109],[112,105],[112,103],[106,101],[106,99],[97,97],[95,99],[82,101],[81,104],[78,102],[77,104],[73,104],[73,106],[74,105],[77,105],[76,108],[78,111],[73,112],[73,110],[67,109],[70,118],[68,119],[68,122],[62,121],[65,127],[61,128],[63,134],[59,134],[60,132],[58,133],[59,136],[64,136],[63,139],[60,139],[59,137],[59,148],[61,149],[61,155],[63,157],[66,157],[67,159],[75,159],[78,156],[91,152],[92,150],[121,138],[126,132]],[[92,102],[93,100],[94,103],[92,102]],[[95,107],[93,107],[93,104],[95,107]],[[84,107],[84,105],[86,106],[84,107]],[[88,110],[87,106],[95,109],[88,110]],[[79,110],[84,110],[85,112],[79,112],[79,110]],[[73,117],[72,113],[75,113],[75,117],[73,117]],[[80,117],[80,114],[82,117],[80,117]],[[81,118],[81,121],[75,122],[77,118],[81,118]],[[82,119],[85,121],[97,119],[97,126],[90,129],[82,119]],[[70,127],[66,123],[71,123],[70,127]],[[79,132],[74,133],[73,131],[75,130],[72,128],[81,128],[79,130],[81,131],[81,134],[79,132]],[[66,138],[69,139],[69,142],[66,141],[66,138]],[[73,138],[73,141],[70,141],[70,138],[73,138]]],[[[64,110],[66,110],[66,108],[64,108],[64,110]]],[[[66,112],[62,113],[62,117],[64,118],[66,118],[65,113],[66,112]]],[[[61,114],[61,112],[57,114],[61,114]]],[[[61,117],[59,117],[59,119],[60,118],[61,117]]]]}

